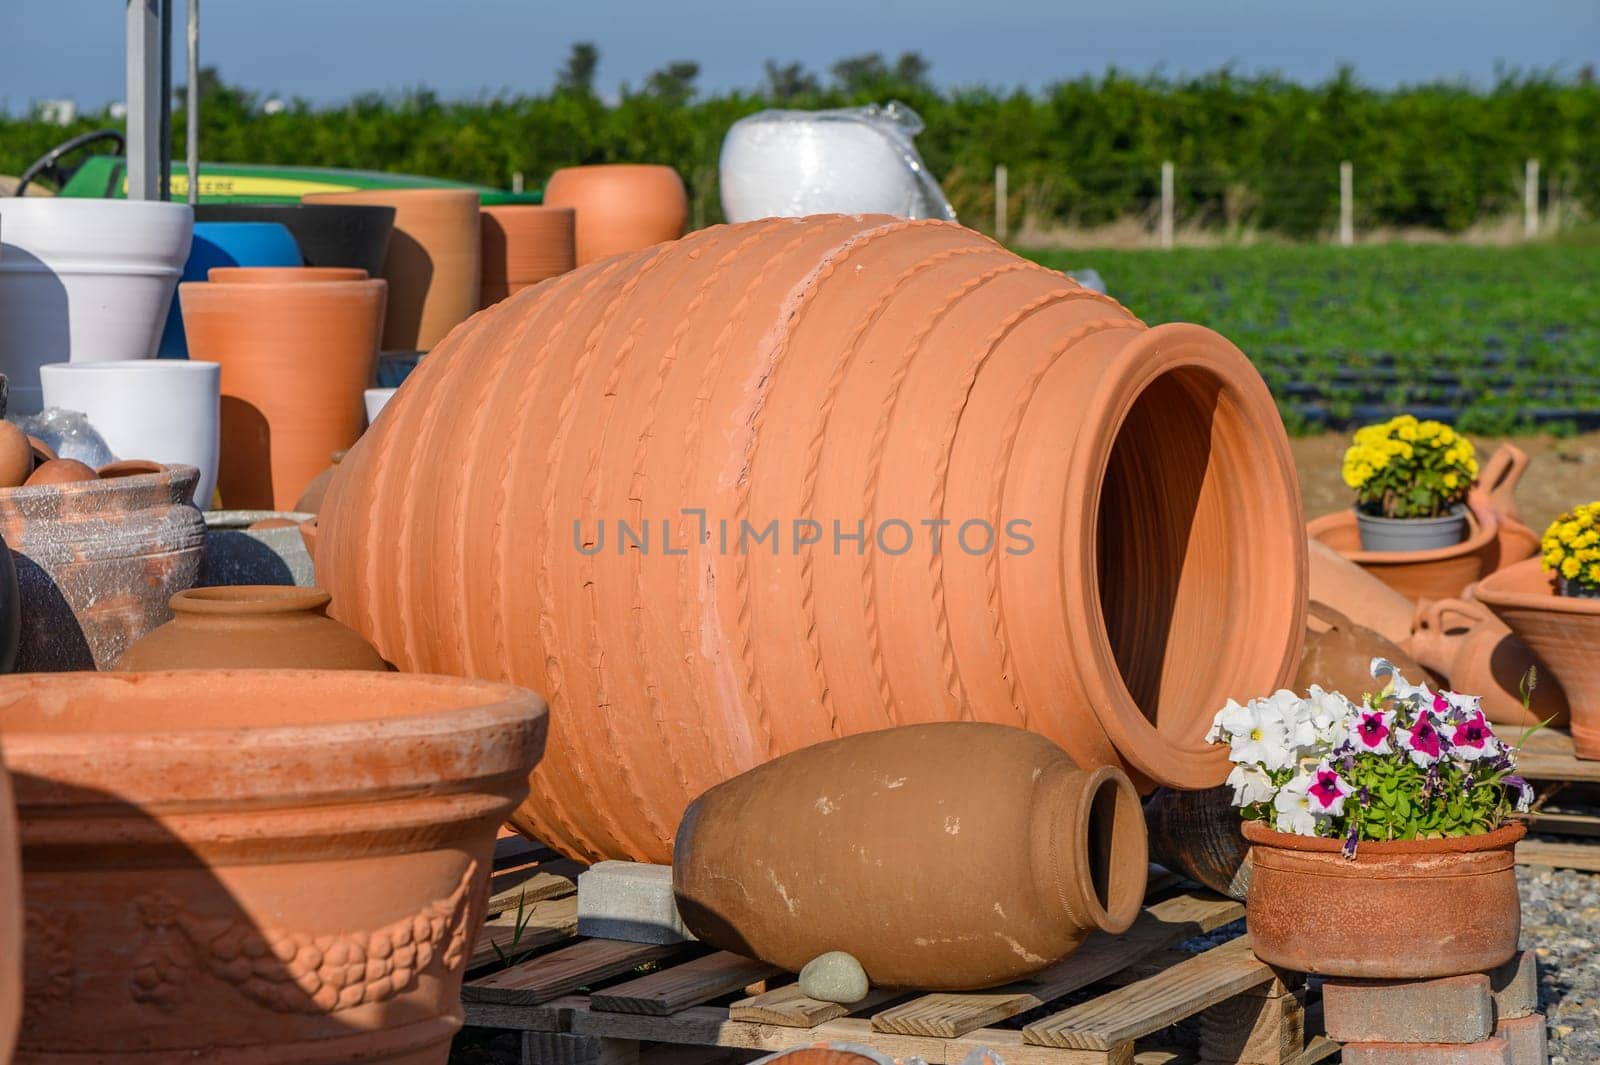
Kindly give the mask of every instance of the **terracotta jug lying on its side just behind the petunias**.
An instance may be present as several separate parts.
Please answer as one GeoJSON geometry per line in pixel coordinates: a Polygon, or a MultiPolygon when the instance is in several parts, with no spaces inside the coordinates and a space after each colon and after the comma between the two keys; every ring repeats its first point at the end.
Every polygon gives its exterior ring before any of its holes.
{"type": "MultiPolygon", "coordinates": [[[[1410,646],[1418,662],[1448,678],[1451,689],[1480,696],[1483,716],[1490,721],[1522,728],[1549,721],[1555,728],[1566,728],[1566,694],[1549,670],[1541,670],[1533,700],[1528,710],[1523,708],[1522,678],[1530,667],[1538,665],[1538,659],[1482,603],[1419,603],[1410,646]]],[[[1510,739],[1515,742],[1515,737],[1510,739]]]]}

